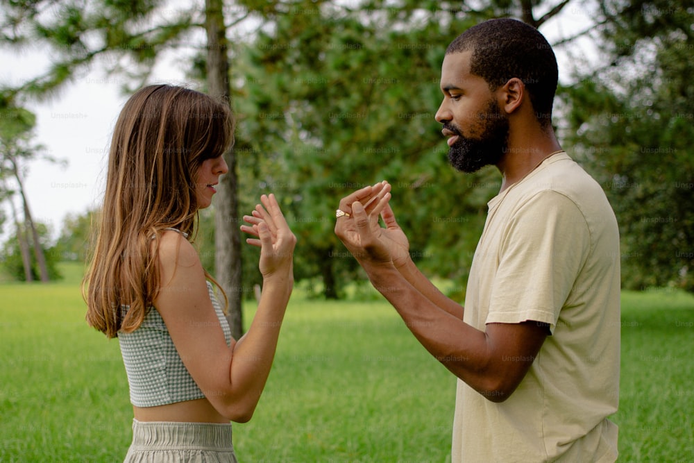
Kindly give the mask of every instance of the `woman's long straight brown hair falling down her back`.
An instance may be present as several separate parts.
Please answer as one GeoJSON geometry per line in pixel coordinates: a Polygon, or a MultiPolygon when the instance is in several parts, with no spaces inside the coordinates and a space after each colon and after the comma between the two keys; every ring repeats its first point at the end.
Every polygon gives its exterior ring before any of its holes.
{"type": "Polygon", "coordinates": [[[194,236],[196,173],[204,160],[226,151],[233,125],[228,103],[183,87],[151,85],[128,99],[113,132],[83,280],[90,326],[110,338],[140,326],[159,292],[162,231],[194,236]],[[122,319],[121,305],[130,306],[122,319]]]}

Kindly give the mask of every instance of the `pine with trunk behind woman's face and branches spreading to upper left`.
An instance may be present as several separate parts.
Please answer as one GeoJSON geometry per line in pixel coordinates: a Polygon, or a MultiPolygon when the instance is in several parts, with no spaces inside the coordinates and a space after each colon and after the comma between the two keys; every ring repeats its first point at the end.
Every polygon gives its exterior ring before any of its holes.
{"type": "MultiPolygon", "coordinates": [[[[97,61],[106,65],[108,73],[124,75],[139,87],[146,82],[153,64],[164,52],[186,47],[194,49],[195,44],[205,43],[197,39],[196,31],[205,31],[208,90],[228,100],[226,32],[248,17],[245,8],[237,8],[232,11],[231,18],[226,17],[221,0],[208,0],[204,8],[196,4],[174,6],[162,0],[102,0],[88,4],[74,0],[3,0],[2,6],[5,17],[0,24],[0,34],[6,44],[21,47],[29,42],[40,42],[55,53],[56,61],[45,74],[12,89],[12,94],[35,98],[46,98],[57,92],[74,80],[78,71],[97,61]]],[[[128,87],[125,90],[131,91],[128,87]]],[[[228,318],[232,334],[239,337],[243,328],[239,297],[242,262],[236,217],[237,171],[233,151],[226,153],[226,158],[230,169],[221,181],[216,200],[220,206],[217,276],[229,296],[228,318]]]]}

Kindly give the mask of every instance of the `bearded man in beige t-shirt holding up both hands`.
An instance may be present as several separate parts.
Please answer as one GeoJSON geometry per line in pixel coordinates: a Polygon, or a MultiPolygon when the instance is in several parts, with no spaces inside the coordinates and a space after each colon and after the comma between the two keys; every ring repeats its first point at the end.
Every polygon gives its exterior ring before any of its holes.
{"type": "Polygon", "coordinates": [[[446,50],[436,119],[450,162],[502,174],[464,307],[409,258],[389,184],[350,194],[337,211],[335,233],[373,286],[459,378],[452,462],[617,457],[607,416],[618,404],[618,228],[600,185],[557,142],[556,87],[550,45],[514,19],[478,24],[446,50]]]}

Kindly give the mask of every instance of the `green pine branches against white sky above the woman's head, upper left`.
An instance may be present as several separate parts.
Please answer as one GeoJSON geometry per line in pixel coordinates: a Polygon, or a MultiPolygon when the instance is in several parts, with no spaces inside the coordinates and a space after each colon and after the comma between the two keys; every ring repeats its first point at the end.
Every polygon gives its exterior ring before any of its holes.
{"type": "Polygon", "coordinates": [[[142,85],[161,51],[186,44],[198,6],[171,8],[163,0],[3,2],[0,34],[6,44],[37,43],[53,53],[49,70],[10,89],[44,99],[73,81],[96,60],[108,72],[142,85]],[[46,14],[49,10],[51,14],[46,14]],[[123,60],[122,58],[127,58],[123,60]]]}

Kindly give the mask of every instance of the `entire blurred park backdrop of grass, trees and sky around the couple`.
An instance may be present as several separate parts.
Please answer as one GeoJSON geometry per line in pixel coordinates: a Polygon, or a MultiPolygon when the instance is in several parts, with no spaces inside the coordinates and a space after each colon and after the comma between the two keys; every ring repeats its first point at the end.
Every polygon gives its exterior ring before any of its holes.
{"type": "Polygon", "coordinates": [[[464,300],[500,174],[449,167],[434,114],[446,47],[493,17],[552,44],[553,124],[619,221],[620,461],[691,461],[692,0],[0,0],[0,461],[112,462],[130,443],[118,344],[86,325],[79,281],[115,120],[150,83],[235,112],[232,168],[195,237],[235,337],[260,283],[243,214],[273,192],[298,237],[263,405],[235,425],[239,458],[450,461],[455,378],[333,227],[342,196],[389,180],[412,257],[464,300]]]}

